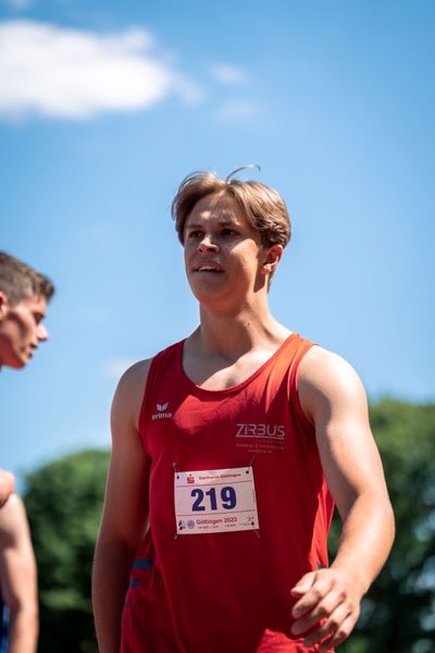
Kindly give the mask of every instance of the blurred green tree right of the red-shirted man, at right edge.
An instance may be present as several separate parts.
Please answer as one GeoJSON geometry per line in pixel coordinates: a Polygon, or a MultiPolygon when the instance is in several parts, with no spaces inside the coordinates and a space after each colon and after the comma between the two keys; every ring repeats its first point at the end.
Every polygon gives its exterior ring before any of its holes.
{"type": "MultiPolygon", "coordinates": [[[[435,651],[435,405],[385,399],[371,423],[396,515],[388,563],[344,653],[435,651]]],[[[331,537],[334,555],[339,521],[331,537]]]]}

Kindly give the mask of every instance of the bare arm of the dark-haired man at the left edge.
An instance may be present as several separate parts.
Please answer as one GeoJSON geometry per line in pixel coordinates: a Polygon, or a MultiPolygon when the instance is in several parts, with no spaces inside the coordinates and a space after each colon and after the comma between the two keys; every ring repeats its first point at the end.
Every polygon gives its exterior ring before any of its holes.
{"type": "Polygon", "coordinates": [[[8,652],[35,653],[38,599],[35,555],[22,500],[13,494],[0,510],[0,583],[9,607],[8,652]]]}

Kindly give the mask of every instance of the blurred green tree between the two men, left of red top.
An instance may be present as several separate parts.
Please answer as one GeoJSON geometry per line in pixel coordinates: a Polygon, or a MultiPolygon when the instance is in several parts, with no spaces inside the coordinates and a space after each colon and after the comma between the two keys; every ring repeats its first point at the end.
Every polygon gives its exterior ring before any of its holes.
{"type": "Polygon", "coordinates": [[[84,451],[27,477],[38,562],[41,653],[96,653],[90,572],[109,454],[84,451]]]}

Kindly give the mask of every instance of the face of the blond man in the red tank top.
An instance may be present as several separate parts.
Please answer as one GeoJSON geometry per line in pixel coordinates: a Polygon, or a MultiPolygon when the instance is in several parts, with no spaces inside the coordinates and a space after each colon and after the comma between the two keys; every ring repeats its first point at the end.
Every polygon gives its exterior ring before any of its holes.
{"type": "MultiPolygon", "coordinates": [[[[226,194],[198,201],[185,225],[185,264],[194,295],[201,303],[254,292],[270,248],[226,194]]],[[[264,285],[264,275],[262,275],[264,285]]]]}

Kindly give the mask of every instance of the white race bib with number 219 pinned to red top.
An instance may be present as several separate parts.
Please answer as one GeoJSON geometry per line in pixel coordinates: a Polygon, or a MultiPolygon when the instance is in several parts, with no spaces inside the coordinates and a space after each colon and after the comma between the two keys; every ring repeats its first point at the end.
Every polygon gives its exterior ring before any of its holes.
{"type": "Polygon", "coordinates": [[[178,535],[259,528],[252,467],[175,471],[174,500],[178,535]]]}

